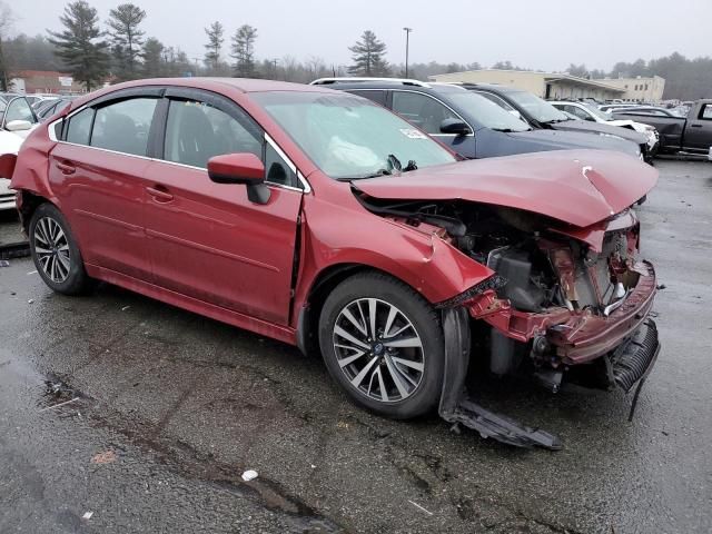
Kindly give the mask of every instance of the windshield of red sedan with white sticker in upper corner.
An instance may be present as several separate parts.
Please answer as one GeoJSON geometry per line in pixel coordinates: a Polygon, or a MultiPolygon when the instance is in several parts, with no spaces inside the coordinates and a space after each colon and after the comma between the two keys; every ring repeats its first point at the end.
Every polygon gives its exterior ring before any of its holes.
{"type": "Polygon", "coordinates": [[[413,125],[348,93],[261,92],[251,96],[326,175],[356,179],[451,164],[455,157],[413,125]],[[385,172],[384,172],[385,171],[385,172]]]}

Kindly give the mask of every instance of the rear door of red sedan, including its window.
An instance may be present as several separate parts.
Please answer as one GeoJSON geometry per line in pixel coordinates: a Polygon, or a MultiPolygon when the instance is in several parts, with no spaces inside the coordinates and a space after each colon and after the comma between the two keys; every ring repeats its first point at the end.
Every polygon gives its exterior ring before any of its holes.
{"type": "Polygon", "coordinates": [[[117,92],[65,120],[49,179],[85,261],[150,280],[145,236],[148,138],[160,89],[117,92]]]}

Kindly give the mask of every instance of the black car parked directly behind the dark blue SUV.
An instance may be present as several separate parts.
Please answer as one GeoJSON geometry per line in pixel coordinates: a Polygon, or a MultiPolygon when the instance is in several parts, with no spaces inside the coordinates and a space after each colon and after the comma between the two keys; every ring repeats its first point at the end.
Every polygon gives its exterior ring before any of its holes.
{"type": "Polygon", "coordinates": [[[532,128],[623,138],[637,145],[645,160],[650,159],[650,155],[647,154],[647,139],[636,131],[619,126],[572,119],[546,100],[542,100],[531,92],[513,87],[491,83],[462,83],[461,86],[488,98],[504,109],[516,110],[520,117],[526,120],[532,128]]]}

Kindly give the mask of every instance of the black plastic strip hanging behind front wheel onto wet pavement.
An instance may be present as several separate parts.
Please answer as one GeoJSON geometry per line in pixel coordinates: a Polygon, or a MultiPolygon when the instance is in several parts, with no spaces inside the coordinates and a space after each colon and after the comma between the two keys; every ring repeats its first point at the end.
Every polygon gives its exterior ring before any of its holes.
{"type": "Polygon", "coordinates": [[[483,408],[468,398],[465,376],[469,364],[469,317],[462,308],[443,310],[445,333],[445,374],[439,415],[455,426],[462,424],[479,433],[516,447],[544,447],[552,451],[562,448],[561,441],[537,428],[520,423],[483,408]]]}

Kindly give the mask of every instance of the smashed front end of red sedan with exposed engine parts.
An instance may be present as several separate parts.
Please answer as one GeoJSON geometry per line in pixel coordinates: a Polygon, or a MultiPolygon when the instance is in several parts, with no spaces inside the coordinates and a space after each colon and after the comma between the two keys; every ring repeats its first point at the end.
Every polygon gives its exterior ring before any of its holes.
{"type": "Polygon", "coordinates": [[[649,317],[657,283],[652,264],[637,256],[637,218],[626,210],[592,228],[555,233],[560,239],[533,238],[488,255],[502,284],[466,306],[494,329],[491,368],[513,373],[527,357],[556,390],[565,372],[587,366],[600,385],[630,390],[660,347],[649,317]],[[592,365],[599,359],[602,365],[592,365]]]}

